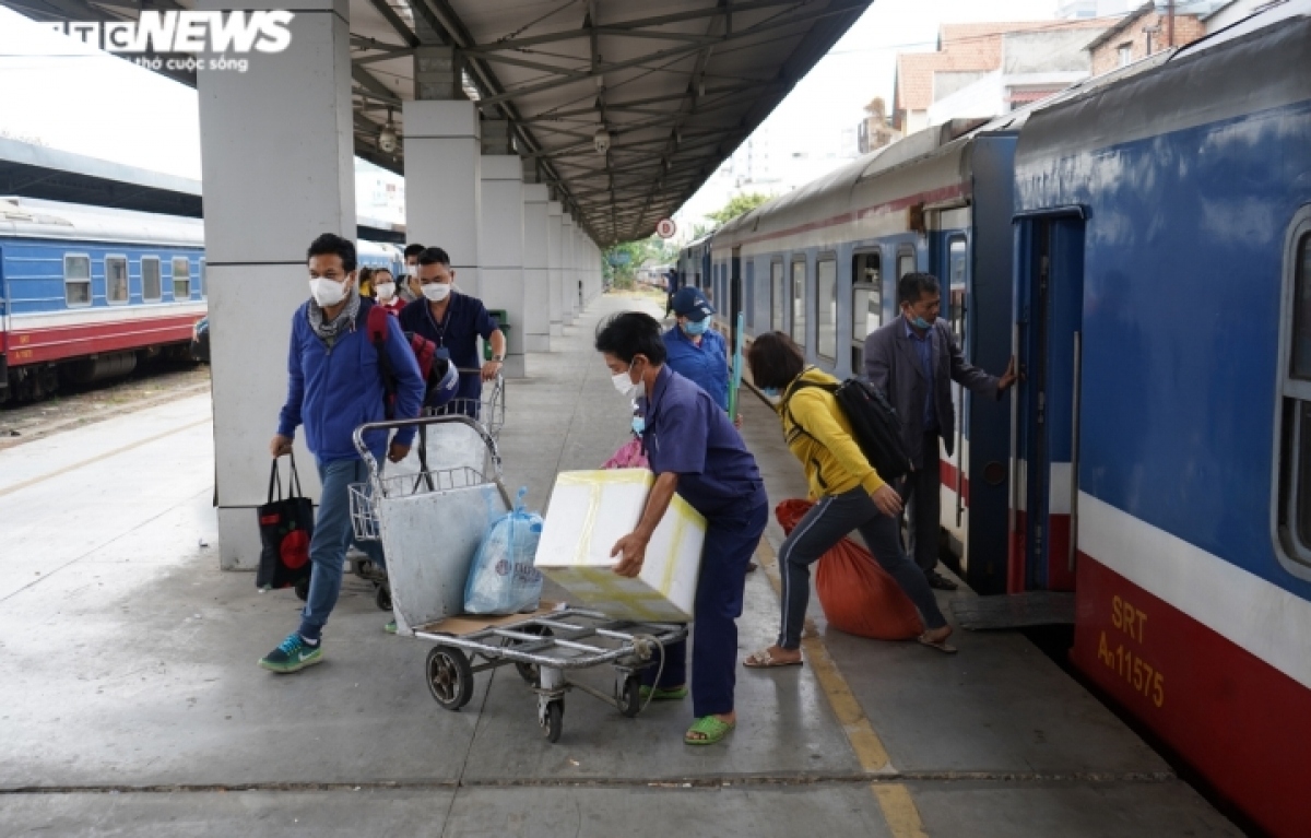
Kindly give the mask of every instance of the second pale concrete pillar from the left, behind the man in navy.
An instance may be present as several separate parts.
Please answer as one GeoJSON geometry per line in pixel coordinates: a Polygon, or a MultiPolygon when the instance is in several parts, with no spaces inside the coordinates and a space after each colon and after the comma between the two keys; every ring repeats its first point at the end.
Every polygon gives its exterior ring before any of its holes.
{"type": "Polygon", "coordinates": [[[482,153],[471,101],[405,102],[405,237],[451,256],[455,285],[481,296],[482,153]]]}

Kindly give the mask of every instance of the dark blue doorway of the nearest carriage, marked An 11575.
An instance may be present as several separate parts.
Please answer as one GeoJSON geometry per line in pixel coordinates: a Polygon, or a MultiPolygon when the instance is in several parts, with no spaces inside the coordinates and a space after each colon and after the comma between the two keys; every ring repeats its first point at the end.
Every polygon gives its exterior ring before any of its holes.
{"type": "Polygon", "coordinates": [[[1074,590],[1078,549],[1083,218],[1020,220],[1007,588],[1074,590]]]}

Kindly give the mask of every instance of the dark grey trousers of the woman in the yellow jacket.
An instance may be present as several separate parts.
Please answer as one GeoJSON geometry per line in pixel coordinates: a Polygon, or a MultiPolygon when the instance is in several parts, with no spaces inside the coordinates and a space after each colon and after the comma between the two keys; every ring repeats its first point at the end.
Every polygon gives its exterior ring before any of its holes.
{"type": "Polygon", "coordinates": [[[924,624],[931,629],[947,624],[933,599],[933,591],[928,588],[928,580],[902,552],[897,519],[878,511],[874,501],[857,487],[844,494],[819,498],[783,542],[779,551],[779,569],[783,573],[783,628],[779,632],[779,645],[784,649],[801,647],[801,629],[810,603],[810,565],[852,530],[860,530],[874,561],[906,591],[924,618],[924,624]]]}

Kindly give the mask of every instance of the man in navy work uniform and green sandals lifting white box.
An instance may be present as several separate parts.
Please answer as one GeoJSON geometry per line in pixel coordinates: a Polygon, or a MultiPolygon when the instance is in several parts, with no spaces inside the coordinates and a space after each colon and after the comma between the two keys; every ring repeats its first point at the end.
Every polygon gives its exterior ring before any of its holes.
{"type": "MultiPolygon", "coordinates": [[[[615,388],[638,399],[645,417],[642,447],[656,472],[637,527],[615,543],[615,573],[641,572],[646,544],[678,492],[705,517],[701,574],[696,588],[692,645],[692,713],[696,721],[683,741],[712,745],[735,725],[733,687],[737,669],[737,618],[742,614],[746,565],[760,542],[768,500],[755,458],[704,389],[666,366],[659,323],[624,312],[602,323],[597,350],[610,367],[615,388]]],[[[687,695],[687,644],[666,649],[659,683],[648,669],[646,694],[653,700],[687,695]],[[652,694],[653,691],[653,694],[652,694]]]]}

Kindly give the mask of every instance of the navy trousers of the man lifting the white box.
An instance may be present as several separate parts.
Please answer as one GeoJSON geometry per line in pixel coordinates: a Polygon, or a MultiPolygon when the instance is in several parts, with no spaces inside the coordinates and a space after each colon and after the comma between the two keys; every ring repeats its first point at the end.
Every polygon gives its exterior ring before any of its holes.
{"type": "MultiPolygon", "coordinates": [[[[692,637],[692,715],[733,712],[737,685],[737,618],[742,616],[746,565],[770,518],[768,504],[741,515],[708,518],[701,549],[701,577],[696,584],[696,619],[692,637]]],[[[656,666],[642,670],[642,682],[656,683],[656,666]]],[[[687,683],[687,641],[665,649],[661,687],[687,683]]]]}

